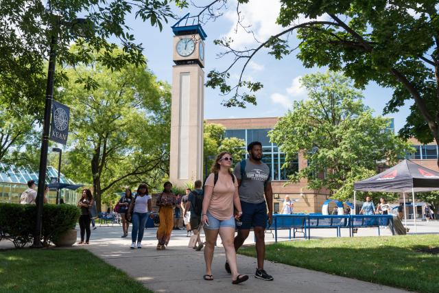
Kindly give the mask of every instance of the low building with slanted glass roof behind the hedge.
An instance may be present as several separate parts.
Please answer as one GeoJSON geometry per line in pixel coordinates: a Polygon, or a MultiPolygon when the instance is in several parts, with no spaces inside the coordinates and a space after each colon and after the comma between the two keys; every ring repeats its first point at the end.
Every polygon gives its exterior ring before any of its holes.
{"type": "MultiPolygon", "coordinates": [[[[58,178],[58,170],[54,167],[47,167],[46,183],[52,178],[58,178]]],[[[21,194],[27,189],[27,181],[38,181],[38,173],[32,171],[30,166],[15,167],[0,163],[0,202],[19,203],[21,194]]],[[[60,183],[75,184],[63,174],[60,174],[60,183]]],[[[71,189],[60,189],[60,196],[64,203],[76,204],[79,192],[71,189]]],[[[49,203],[56,203],[56,190],[47,194],[49,203]]]]}

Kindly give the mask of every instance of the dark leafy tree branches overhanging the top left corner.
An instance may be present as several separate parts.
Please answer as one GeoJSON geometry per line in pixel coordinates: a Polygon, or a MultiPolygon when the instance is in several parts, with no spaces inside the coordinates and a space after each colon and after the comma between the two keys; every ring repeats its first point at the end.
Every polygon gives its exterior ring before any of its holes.
{"type": "MultiPolygon", "coordinates": [[[[123,47],[118,54],[102,54],[99,61],[108,69],[121,69],[126,64],[145,64],[142,45],[135,42],[126,17],[150,21],[160,30],[168,19],[175,18],[167,0],[59,0],[29,1],[3,0],[0,5],[0,91],[9,105],[32,105],[25,108],[29,114],[43,117],[45,59],[49,56],[51,36],[56,36],[57,62],[74,66],[90,62],[94,50],[113,51],[117,40],[123,47]],[[47,6],[45,7],[45,3],[47,6]],[[85,17],[86,21],[78,21],[85,17]],[[83,35],[83,36],[80,36],[83,35]],[[69,51],[71,43],[78,50],[69,51]],[[3,86],[12,89],[4,91],[3,86]]],[[[185,0],[175,0],[180,8],[185,0]]],[[[56,72],[59,84],[66,77],[56,72]]],[[[93,86],[93,79],[81,80],[84,86],[93,86]]],[[[21,107],[23,108],[23,107],[21,107]]]]}

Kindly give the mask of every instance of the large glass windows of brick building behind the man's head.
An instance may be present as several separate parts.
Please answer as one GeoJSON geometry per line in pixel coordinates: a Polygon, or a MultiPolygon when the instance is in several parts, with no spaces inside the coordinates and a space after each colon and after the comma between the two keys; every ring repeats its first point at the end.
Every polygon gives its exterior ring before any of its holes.
{"type": "MultiPolygon", "coordinates": [[[[288,177],[299,170],[298,156],[289,161],[285,167],[285,153],[281,152],[276,143],[270,142],[268,132],[270,128],[265,129],[239,129],[226,130],[226,137],[237,137],[244,139],[246,145],[252,141],[262,143],[262,161],[270,167],[272,171],[272,180],[288,180],[288,177]]],[[[246,153],[246,157],[248,154],[246,153]]]]}

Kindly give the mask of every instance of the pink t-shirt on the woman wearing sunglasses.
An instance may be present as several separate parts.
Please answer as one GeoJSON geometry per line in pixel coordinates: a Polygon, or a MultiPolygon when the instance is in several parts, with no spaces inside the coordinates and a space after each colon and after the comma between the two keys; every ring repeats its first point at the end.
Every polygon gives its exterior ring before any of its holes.
{"type": "MultiPolygon", "coordinates": [[[[235,177],[235,175],[233,175],[235,177]]],[[[206,180],[206,186],[213,186],[215,175],[211,173],[206,180]]],[[[218,180],[213,193],[211,202],[207,210],[218,220],[228,220],[233,215],[233,196],[235,189],[238,187],[238,180],[235,177],[235,184],[233,184],[230,175],[218,174],[218,180]]]]}

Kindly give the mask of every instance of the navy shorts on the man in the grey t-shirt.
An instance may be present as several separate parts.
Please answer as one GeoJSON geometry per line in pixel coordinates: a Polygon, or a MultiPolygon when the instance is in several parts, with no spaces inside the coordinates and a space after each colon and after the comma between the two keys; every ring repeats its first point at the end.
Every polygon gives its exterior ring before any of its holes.
{"type": "Polygon", "coordinates": [[[259,204],[250,204],[241,200],[242,215],[241,219],[237,221],[237,229],[250,229],[252,227],[267,227],[267,204],[265,201],[259,204]],[[239,225],[239,222],[242,222],[239,225]]]}

